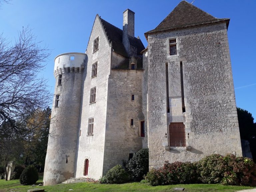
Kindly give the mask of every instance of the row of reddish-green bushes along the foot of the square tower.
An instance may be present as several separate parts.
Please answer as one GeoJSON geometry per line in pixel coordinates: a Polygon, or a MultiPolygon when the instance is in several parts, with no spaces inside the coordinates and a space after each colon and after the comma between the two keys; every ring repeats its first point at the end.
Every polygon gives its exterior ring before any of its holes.
{"type": "Polygon", "coordinates": [[[153,186],[181,183],[256,186],[256,164],[246,157],[213,154],[195,163],[166,161],[163,167],[150,170],[145,179],[153,186]]]}

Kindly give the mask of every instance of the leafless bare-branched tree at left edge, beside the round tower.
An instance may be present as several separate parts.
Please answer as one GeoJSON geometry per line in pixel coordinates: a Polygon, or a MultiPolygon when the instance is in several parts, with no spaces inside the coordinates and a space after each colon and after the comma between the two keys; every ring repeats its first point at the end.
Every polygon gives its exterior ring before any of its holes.
{"type": "Polygon", "coordinates": [[[5,168],[31,131],[27,121],[49,104],[47,81],[39,77],[49,52],[39,44],[28,27],[14,44],[0,35],[0,159],[5,168]]]}

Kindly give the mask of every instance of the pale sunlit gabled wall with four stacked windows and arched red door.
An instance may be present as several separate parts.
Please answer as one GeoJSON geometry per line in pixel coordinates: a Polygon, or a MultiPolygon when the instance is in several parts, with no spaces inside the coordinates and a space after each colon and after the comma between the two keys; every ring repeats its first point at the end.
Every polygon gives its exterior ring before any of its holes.
{"type": "Polygon", "coordinates": [[[98,16],[95,19],[86,54],[88,55],[88,64],[83,76],[81,136],[79,136],[75,176],[99,179],[103,171],[111,47],[98,16]],[[97,37],[99,37],[99,49],[93,52],[93,41],[97,37]],[[92,64],[95,62],[98,62],[97,76],[92,78],[92,64]],[[96,87],[96,100],[95,103],[90,104],[90,89],[93,87],[96,87]],[[87,136],[88,119],[92,117],[94,118],[93,135],[87,136]],[[84,176],[85,159],[89,160],[88,176],[84,176]]]}

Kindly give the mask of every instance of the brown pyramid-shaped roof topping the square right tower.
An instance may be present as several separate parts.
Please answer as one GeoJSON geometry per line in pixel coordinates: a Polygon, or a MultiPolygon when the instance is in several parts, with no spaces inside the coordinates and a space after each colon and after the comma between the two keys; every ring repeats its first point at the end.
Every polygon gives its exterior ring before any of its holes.
{"type": "Polygon", "coordinates": [[[187,1],[181,1],[155,29],[146,32],[145,36],[147,36],[147,33],[219,21],[226,21],[228,27],[229,19],[218,19],[195,7],[191,3],[188,3],[187,1]]]}

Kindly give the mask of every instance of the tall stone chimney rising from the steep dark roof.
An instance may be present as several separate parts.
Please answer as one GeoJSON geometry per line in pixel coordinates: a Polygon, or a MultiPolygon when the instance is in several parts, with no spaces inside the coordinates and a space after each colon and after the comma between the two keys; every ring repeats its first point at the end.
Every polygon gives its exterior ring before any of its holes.
{"type": "Polygon", "coordinates": [[[123,12],[123,45],[128,55],[133,55],[134,50],[130,47],[130,38],[134,38],[134,12],[127,9],[123,12]]]}

